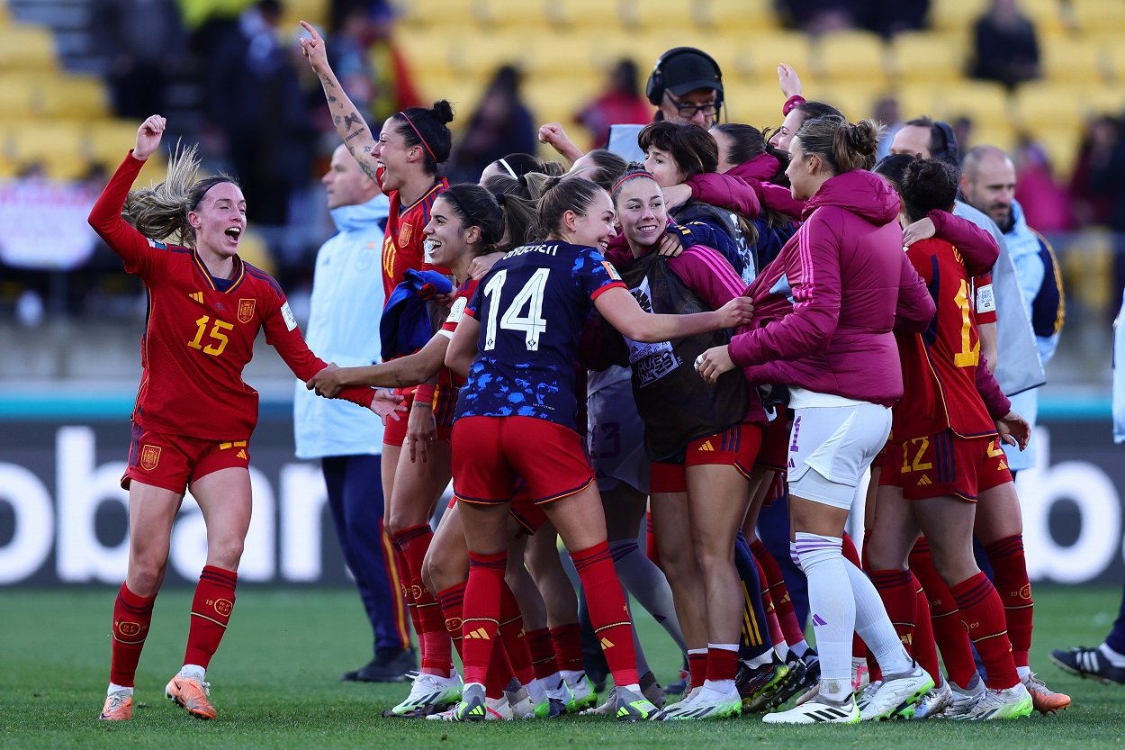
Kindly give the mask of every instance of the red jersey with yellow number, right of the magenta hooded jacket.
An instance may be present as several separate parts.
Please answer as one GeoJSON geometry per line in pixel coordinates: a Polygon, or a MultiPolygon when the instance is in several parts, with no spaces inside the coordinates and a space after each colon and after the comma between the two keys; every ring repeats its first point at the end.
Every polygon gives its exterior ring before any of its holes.
{"type": "Polygon", "coordinates": [[[937,313],[925,333],[900,333],[904,392],[893,409],[894,440],[936,435],[994,435],[996,427],[976,392],[980,340],[969,274],[956,249],[944,240],[916,242],[907,257],[926,282],[937,313]]]}

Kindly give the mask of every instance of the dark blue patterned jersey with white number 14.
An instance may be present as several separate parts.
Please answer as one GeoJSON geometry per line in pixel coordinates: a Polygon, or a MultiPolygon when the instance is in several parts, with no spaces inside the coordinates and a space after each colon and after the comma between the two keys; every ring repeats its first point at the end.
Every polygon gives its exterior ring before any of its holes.
{"type": "Polygon", "coordinates": [[[466,313],[480,322],[477,357],[457,417],[536,417],[575,428],[574,361],[594,300],[621,277],[594,248],[516,248],[477,286],[466,313]]]}

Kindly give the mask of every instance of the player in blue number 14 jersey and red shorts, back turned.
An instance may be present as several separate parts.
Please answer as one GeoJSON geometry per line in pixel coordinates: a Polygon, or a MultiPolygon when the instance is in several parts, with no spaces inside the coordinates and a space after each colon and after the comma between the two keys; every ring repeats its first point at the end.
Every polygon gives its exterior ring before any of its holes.
{"type": "Polygon", "coordinates": [[[632,626],[613,571],[593,473],[575,430],[574,360],[592,307],[637,341],[666,341],[740,324],[734,300],[717,312],[648,315],[597,248],[614,235],[610,196],[590,180],[549,184],[543,240],[516,248],[485,277],[446,355],[467,374],[453,426],[453,489],[469,545],[465,690],[456,717],[484,720],[484,679],[500,615],[514,479],[528,484],[570,551],[616,685],[622,721],[663,720],[641,695],[632,626]]]}

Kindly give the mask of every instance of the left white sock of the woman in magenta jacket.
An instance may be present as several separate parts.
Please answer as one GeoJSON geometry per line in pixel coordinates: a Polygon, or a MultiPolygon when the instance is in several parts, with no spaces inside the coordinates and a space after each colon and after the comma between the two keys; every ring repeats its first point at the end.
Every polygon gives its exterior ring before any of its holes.
{"type": "MultiPolygon", "coordinates": [[[[852,691],[852,633],[855,631],[856,604],[846,561],[840,553],[843,543],[844,539],[838,536],[798,532],[793,545],[801,569],[809,579],[809,608],[820,654],[820,694],[830,700],[843,700],[852,691]]],[[[875,595],[875,598],[879,596],[875,595]]],[[[893,627],[891,634],[894,634],[893,627]]]]}

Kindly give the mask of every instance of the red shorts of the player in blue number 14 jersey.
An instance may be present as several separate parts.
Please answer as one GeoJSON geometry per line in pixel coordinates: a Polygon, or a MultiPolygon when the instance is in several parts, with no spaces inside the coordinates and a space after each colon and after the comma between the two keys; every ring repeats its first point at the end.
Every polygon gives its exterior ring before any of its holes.
{"type": "Polygon", "coordinates": [[[508,502],[523,477],[532,502],[585,490],[594,472],[582,438],[534,417],[462,417],[453,423],[453,493],[480,505],[508,502]]]}

